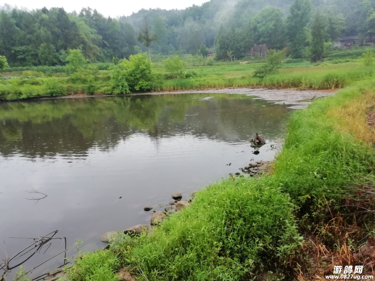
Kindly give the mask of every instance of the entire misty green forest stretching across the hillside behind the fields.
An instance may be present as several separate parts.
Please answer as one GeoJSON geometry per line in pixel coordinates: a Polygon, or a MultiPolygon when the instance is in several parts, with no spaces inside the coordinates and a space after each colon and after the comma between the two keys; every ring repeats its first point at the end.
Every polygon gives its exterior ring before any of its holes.
{"type": "Polygon", "coordinates": [[[365,40],[375,34],[375,0],[211,0],[119,18],[90,7],[68,13],[63,7],[26,11],[5,4],[0,10],[0,55],[10,66],[65,65],[69,49],[98,63],[147,51],[205,54],[215,46],[216,59],[228,60],[264,43],[269,49],[289,46],[290,57],[317,61],[339,36],[365,40]],[[148,43],[140,36],[145,31],[148,43]]]}

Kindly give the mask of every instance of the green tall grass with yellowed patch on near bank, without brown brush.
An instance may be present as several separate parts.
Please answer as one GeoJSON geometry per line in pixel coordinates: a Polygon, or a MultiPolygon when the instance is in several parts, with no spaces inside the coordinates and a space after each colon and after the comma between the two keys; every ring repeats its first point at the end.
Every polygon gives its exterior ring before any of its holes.
{"type": "MultiPolygon", "coordinates": [[[[264,270],[293,279],[293,271],[285,269],[300,258],[303,239],[295,211],[310,216],[321,211],[317,219],[324,221],[330,218],[323,206],[330,204],[350,214],[353,210],[342,206],[352,192],[346,186],[374,177],[374,132],[365,127],[374,87],[372,80],[361,81],[295,112],[272,175],[229,178],[198,191],[189,208],[150,235],[124,239],[108,250],[120,261],[112,270],[126,266],[139,280],[150,281],[249,280],[264,270]],[[357,126],[342,121],[348,112],[357,126]]],[[[370,229],[373,218],[365,221],[370,229]]],[[[72,280],[104,281],[82,271],[94,259],[95,254],[84,256],[71,269],[72,280]]]]}

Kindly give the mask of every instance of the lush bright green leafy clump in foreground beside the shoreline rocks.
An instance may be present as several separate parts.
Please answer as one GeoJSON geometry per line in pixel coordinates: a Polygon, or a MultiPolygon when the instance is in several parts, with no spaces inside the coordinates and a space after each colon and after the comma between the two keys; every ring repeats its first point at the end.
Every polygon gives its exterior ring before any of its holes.
{"type": "MultiPolygon", "coordinates": [[[[300,237],[288,195],[247,178],[200,191],[150,236],[117,242],[119,259],[147,280],[240,280],[286,265],[300,237]]],[[[83,258],[93,259],[93,256],[83,258]]],[[[80,266],[73,280],[86,280],[80,266]]],[[[101,279],[95,279],[101,280],[101,279]]]]}

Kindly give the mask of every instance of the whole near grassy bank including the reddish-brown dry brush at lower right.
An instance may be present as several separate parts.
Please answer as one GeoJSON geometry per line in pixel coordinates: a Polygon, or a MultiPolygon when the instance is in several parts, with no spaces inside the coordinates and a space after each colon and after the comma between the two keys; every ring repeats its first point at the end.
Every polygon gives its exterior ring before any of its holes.
{"type": "Polygon", "coordinates": [[[361,81],[295,112],[271,175],[198,191],[151,235],[85,254],[70,278],[117,280],[126,267],[149,281],[319,280],[347,265],[343,249],[350,255],[374,235],[372,197],[363,191],[374,192],[375,135],[366,122],[374,87],[361,81]],[[326,252],[313,251],[318,245],[326,252]]]}

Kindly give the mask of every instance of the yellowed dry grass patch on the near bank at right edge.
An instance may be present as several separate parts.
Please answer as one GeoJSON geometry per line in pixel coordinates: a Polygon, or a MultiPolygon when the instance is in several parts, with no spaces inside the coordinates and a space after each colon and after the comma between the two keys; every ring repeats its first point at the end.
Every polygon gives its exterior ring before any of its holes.
{"type": "Polygon", "coordinates": [[[360,99],[330,108],[327,115],[338,120],[334,123],[337,130],[350,133],[360,141],[374,143],[374,128],[369,126],[367,117],[370,111],[369,105],[374,104],[375,92],[367,91],[360,99]]]}

